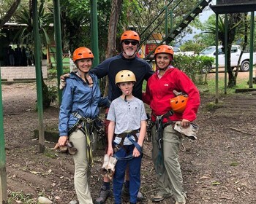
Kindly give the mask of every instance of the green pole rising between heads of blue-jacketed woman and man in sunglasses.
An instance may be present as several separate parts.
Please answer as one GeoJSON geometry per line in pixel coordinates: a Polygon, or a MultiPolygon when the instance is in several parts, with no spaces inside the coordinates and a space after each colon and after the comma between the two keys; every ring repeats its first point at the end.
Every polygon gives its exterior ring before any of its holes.
{"type": "Polygon", "coordinates": [[[91,50],[94,53],[92,67],[94,67],[99,64],[97,0],[91,0],[91,42],[91,50]]]}

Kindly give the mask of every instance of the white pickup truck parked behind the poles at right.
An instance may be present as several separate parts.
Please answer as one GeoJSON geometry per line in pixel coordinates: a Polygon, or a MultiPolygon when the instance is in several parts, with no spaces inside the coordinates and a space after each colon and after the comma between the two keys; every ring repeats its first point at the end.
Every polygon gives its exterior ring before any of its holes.
{"type": "MultiPolygon", "coordinates": [[[[214,57],[216,56],[216,47],[210,46],[206,47],[202,50],[199,55],[201,56],[209,56],[214,57]]],[[[232,45],[231,47],[231,67],[235,68],[238,65],[238,59],[241,53],[240,45],[232,45]]],[[[218,62],[219,68],[225,67],[225,53],[222,50],[222,46],[218,46],[218,62]]],[[[256,64],[256,52],[253,53],[253,64],[256,64]]],[[[212,65],[211,68],[215,68],[216,63],[212,65]]],[[[239,64],[240,71],[249,71],[249,53],[243,53],[241,57],[241,61],[239,64]]]]}

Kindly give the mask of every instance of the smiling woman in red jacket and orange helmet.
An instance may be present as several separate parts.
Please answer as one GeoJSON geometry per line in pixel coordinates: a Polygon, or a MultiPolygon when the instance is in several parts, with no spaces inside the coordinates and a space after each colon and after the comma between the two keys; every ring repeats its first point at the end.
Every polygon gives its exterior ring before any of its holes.
{"type": "Polygon", "coordinates": [[[158,127],[156,139],[152,140],[152,158],[157,171],[159,192],[152,201],[159,202],[173,195],[176,204],[185,204],[187,196],[178,162],[181,134],[173,130],[173,125],[181,121],[182,127],[189,127],[190,122],[196,119],[200,95],[192,80],[183,71],[171,66],[172,47],[160,45],[154,52],[154,58],[157,71],[148,79],[146,93],[143,95],[143,101],[152,109],[151,120],[157,124],[154,128],[158,127]],[[188,96],[187,103],[176,98],[177,92],[188,96]],[[175,103],[171,107],[172,98],[175,98],[175,103]],[[173,114],[170,112],[172,109],[175,110],[173,114]]]}

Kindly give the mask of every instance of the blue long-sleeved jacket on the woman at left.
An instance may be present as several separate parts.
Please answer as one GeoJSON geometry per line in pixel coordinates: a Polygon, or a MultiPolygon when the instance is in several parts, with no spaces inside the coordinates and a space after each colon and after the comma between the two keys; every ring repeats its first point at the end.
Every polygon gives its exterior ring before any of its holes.
{"type": "Polygon", "coordinates": [[[91,119],[99,114],[98,79],[95,74],[90,74],[90,76],[94,82],[93,87],[89,87],[74,72],[70,73],[69,78],[66,79],[67,85],[63,90],[59,111],[59,136],[67,136],[69,127],[78,122],[78,118],[74,117],[72,113],[78,112],[81,116],[91,119]]]}

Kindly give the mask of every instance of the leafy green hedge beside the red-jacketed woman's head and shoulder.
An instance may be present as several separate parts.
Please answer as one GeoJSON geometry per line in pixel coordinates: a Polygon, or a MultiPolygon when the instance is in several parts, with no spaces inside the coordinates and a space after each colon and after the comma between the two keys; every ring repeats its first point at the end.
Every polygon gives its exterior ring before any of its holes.
{"type": "Polygon", "coordinates": [[[203,85],[206,84],[206,76],[201,74],[203,68],[206,66],[211,66],[211,63],[214,62],[214,58],[209,58],[206,56],[185,56],[185,55],[176,55],[173,60],[173,66],[184,71],[187,76],[196,84],[203,85]]]}

